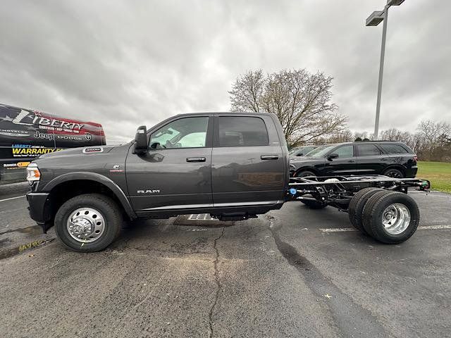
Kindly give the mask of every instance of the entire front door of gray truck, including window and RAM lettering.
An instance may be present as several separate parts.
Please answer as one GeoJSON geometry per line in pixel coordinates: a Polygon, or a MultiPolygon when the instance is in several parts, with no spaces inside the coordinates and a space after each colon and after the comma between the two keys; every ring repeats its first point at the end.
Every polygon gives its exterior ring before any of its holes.
{"type": "Polygon", "coordinates": [[[213,205],[209,137],[213,118],[201,118],[175,119],[152,132],[150,142],[159,142],[159,148],[167,149],[150,149],[144,155],[129,152],[125,168],[130,200],[136,211],[213,205]]]}

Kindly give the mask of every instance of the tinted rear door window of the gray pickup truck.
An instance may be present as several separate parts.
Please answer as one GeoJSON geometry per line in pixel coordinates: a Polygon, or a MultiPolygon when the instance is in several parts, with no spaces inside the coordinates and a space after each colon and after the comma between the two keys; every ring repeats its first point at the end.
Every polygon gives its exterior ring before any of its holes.
{"type": "Polygon", "coordinates": [[[218,118],[217,146],[267,146],[268,131],[264,120],[246,116],[218,118]]]}

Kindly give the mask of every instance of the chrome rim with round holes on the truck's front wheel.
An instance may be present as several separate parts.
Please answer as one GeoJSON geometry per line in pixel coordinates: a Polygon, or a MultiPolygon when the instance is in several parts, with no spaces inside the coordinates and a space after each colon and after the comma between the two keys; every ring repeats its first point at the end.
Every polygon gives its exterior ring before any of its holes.
{"type": "Polygon", "coordinates": [[[94,242],[105,231],[105,219],[96,209],[78,208],[69,215],[66,227],[76,241],[94,242]]]}

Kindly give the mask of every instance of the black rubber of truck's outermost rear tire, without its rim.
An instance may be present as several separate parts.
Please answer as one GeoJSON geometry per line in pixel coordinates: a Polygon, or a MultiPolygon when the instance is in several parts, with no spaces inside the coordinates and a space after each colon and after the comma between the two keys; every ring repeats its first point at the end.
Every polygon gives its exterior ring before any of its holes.
{"type": "MultiPolygon", "coordinates": [[[[379,242],[385,244],[398,244],[409,239],[416,231],[420,219],[418,205],[407,194],[401,192],[388,192],[374,194],[364,206],[363,225],[367,232],[379,242]],[[409,220],[401,227],[402,232],[393,233],[393,229],[383,225],[384,211],[390,206],[402,206],[409,211],[409,220]]],[[[390,224],[390,223],[389,223],[390,224]]],[[[396,224],[396,223],[395,223],[396,224]]]]}

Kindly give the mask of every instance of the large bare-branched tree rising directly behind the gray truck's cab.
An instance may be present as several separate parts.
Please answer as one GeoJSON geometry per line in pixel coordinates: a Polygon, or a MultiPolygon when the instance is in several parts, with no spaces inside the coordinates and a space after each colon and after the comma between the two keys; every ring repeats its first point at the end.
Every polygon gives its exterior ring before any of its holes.
{"type": "Polygon", "coordinates": [[[289,146],[339,133],[347,118],[331,103],[333,77],[307,70],[280,70],[264,75],[250,70],[238,77],[230,94],[233,111],[276,114],[289,146]]]}

